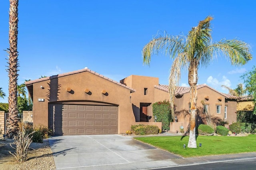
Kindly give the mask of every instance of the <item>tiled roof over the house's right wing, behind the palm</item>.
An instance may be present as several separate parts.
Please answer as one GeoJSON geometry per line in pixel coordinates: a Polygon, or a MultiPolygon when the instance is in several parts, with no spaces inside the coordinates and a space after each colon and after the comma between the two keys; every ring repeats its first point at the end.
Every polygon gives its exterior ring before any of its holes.
{"type": "MultiPolygon", "coordinates": [[[[154,86],[155,88],[158,88],[160,90],[163,90],[165,92],[169,92],[168,89],[169,89],[169,86],[168,85],[155,85],[154,86]]],[[[217,90],[215,90],[214,88],[206,85],[206,84],[199,84],[196,86],[196,89],[200,89],[200,88],[203,88],[203,87],[208,87],[212,90],[214,90],[215,92],[223,95],[225,98],[228,98],[228,99],[241,99],[241,97],[238,97],[238,96],[233,96],[233,95],[230,95],[230,94],[225,94],[225,93],[222,93],[222,92],[218,92],[217,90]]],[[[185,93],[188,93],[190,92],[190,87],[181,87],[181,86],[177,86],[176,87],[176,90],[175,90],[175,96],[182,96],[183,94],[185,93]]]]}

